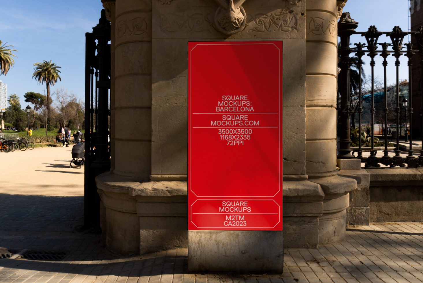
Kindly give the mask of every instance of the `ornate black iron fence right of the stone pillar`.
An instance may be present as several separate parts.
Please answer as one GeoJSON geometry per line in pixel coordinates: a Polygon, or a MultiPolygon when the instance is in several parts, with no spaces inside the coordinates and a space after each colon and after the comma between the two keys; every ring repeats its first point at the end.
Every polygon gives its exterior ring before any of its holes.
{"type": "MultiPolygon", "coordinates": [[[[375,26],[370,26],[365,32],[357,32],[355,29],[358,26],[358,22],[352,19],[348,12],[343,13],[341,19],[338,22],[338,36],[341,38],[338,54],[340,57],[338,66],[340,72],[338,74],[338,92],[340,94],[340,104],[338,104],[338,158],[349,159],[359,158],[365,163],[366,168],[380,167],[381,164],[390,167],[420,167],[423,165],[423,150],[420,150],[420,154],[413,150],[413,90],[412,90],[412,65],[413,58],[415,56],[420,57],[420,66],[423,74],[423,27],[420,27],[417,31],[404,32],[400,27],[396,26],[392,31],[381,32],[378,31],[375,26]],[[364,43],[357,42],[351,44],[350,38],[353,35],[362,36],[365,38],[364,43]],[[408,35],[414,37],[416,44],[403,43],[404,38],[408,35]],[[388,37],[388,42],[383,41],[381,36],[388,37]],[[370,57],[370,90],[363,94],[362,90],[362,66],[363,56],[367,55],[370,57]],[[395,58],[396,68],[396,85],[393,97],[388,99],[387,90],[387,66],[388,56],[392,55],[395,58]],[[375,90],[375,57],[381,56],[383,59],[382,68],[384,73],[383,88],[379,90],[380,95],[376,95],[375,90]],[[401,65],[401,56],[408,58],[408,81],[399,81],[399,66],[401,65]],[[351,67],[355,65],[355,71],[358,72],[358,82],[356,83],[358,88],[358,95],[356,97],[357,109],[356,111],[351,107],[352,91],[350,82],[351,67]],[[408,84],[408,99],[400,95],[401,88],[404,88],[408,84]],[[375,104],[376,98],[376,104],[375,104]],[[401,100],[402,99],[402,100],[401,100]],[[363,102],[366,103],[367,107],[363,107],[363,102]],[[404,111],[401,111],[404,107],[404,111]],[[363,113],[363,109],[369,113],[363,113]],[[355,113],[357,112],[357,113],[355,113]],[[405,112],[405,141],[408,141],[408,154],[401,154],[400,149],[400,134],[402,120],[405,112]],[[352,128],[351,116],[352,114],[358,115],[358,127],[352,128]],[[363,126],[363,115],[367,116],[367,127],[363,126]],[[375,115],[378,114],[380,117],[379,122],[382,127],[380,142],[375,137],[375,115]],[[393,121],[392,119],[393,115],[393,121]],[[407,115],[408,114],[408,115],[407,115]],[[388,116],[391,119],[388,121],[388,116]],[[409,124],[407,124],[407,116],[409,117],[409,124]],[[409,129],[409,131],[407,131],[409,129]],[[367,133],[366,133],[367,132],[367,133]],[[368,134],[368,135],[367,135],[368,134]],[[396,134],[396,135],[395,135],[396,134]],[[352,136],[354,141],[357,142],[356,148],[351,148],[352,136]],[[394,144],[394,150],[388,150],[390,136],[391,142],[394,144]],[[392,139],[395,139],[392,141],[392,139]],[[368,141],[366,147],[363,143],[368,141]],[[381,148],[377,148],[375,144],[381,148]],[[383,143],[383,145],[382,145],[383,143]],[[383,152],[378,154],[378,150],[383,152]]],[[[423,99],[422,105],[418,108],[423,110],[423,99]]],[[[420,114],[421,119],[421,114],[420,114]]],[[[421,123],[420,123],[421,124],[421,123]]],[[[421,126],[420,126],[420,139],[421,139],[421,126]]]]}

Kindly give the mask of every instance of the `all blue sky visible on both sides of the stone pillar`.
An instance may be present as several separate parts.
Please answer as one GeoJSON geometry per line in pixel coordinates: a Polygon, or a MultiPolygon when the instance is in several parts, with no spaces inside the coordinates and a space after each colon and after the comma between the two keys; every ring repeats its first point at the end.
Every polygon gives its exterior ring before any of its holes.
{"type": "MultiPolygon", "coordinates": [[[[52,91],[64,88],[83,98],[85,32],[91,32],[98,23],[101,1],[14,0],[2,1],[1,9],[0,40],[18,50],[14,52],[17,58],[13,69],[6,76],[0,76],[0,80],[8,85],[8,95],[16,93],[22,107],[25,107],[25,92],[44,94],[45,84],[38,85],[32,79],[33,63],[52,60],[62,67],[62,81],[54,85],[52,91]]],[[[380,31],[390,31],[395,25],[408,30],[407,0],[350,0],[344,11],[349,11],[352,18],[359,22],[357,31],[365,31],[370,25],[376,25],[380,31]]],[[[365,41],[360,36],[352,39],[353,42],[355,40],[365,41]]],[[[389,38],[381,40],[387,41],[389,38]]],[[[381,61],[379,58],[377,60],[375,74],[383,76],[381,61]]],[[[395,82],[393,60],[391,58],[389,61],[390,83],[395,82]]],[[[401,65],[400,79],[407,79],[407,61],[403,60],[401,65]]],[[[370,74],[368,63],[365,71],[370,74]]]]}

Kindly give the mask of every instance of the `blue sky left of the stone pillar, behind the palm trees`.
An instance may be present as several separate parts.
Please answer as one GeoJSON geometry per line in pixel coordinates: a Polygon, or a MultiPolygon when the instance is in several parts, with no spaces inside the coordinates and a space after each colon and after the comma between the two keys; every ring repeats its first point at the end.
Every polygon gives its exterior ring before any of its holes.
{"type": "Polygon", "coordinates": [[[33,64],[52,60],[61,66],[60,77],[51,91],[64,88],[84,96],[85,33],[98,23],[100,0],[14,0],[1,1],[0,40],[13,45],[17,58],[0,80],[8,86],[8,96],[16,93],[22,107],[27,91],[44,94],[46,85],[32,79],[33,64]]]}

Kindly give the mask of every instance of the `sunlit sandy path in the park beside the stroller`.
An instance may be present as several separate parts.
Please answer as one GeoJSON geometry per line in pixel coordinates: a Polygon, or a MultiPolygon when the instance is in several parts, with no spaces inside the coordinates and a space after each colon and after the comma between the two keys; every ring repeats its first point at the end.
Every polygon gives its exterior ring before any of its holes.
{"type": "Polygon", "coordinates": [[[84,195],[84,167],[69,168],[72,146],[0,152],[0,193],[84,195]]]}

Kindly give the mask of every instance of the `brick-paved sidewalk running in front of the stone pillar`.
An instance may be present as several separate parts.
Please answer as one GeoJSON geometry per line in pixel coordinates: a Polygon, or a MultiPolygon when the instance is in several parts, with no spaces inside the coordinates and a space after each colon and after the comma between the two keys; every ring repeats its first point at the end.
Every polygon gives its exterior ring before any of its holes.
{"type": "Polygon", "coordinates": [[[187,273],[187,249],[147,255],[108,252],[98,234],[24,235],[0,232],[0,282],[277,283],[423,282],[423,224],[378,223],[347,229],[340,243],[317,249],[285,249],[282,274],[187,273]],[[57,261],[27,260],[28,251],[61,251],[57,261]]]}

